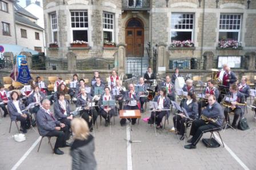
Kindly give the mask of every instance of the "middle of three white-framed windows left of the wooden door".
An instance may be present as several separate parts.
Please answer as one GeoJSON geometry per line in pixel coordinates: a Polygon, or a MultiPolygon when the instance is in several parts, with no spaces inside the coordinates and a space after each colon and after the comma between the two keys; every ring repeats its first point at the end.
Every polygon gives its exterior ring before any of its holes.
{"type": "Polygon", "coordinates": [[[70,11],[72,40],[88,42],[88,13],[87,11],[70,11]]]}

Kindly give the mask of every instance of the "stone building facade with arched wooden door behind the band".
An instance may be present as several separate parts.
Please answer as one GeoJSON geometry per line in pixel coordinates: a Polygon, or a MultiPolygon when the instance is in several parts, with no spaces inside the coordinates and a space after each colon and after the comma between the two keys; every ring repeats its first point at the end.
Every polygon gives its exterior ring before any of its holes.
{"type": "Polygon", "coordinates": [[[77,63],[85,59],[112,61],[120,72],[127,69],[129,57],[142,57],[149,61],[146,65],[171,72],[188,61],[181,68],[193,69],[196,61],[195,69],[210,69],[217,67],[218,56],[226,57],[222,62],[241,56],[239,67],[233,63],[235,67],[255,70],[255,1],[44,0],[43,9],[48,69],[72,70],[67,67],[67,53],[72,52],[77,63]],[[71,47],[74,40],[85,40],[87,47],[71,47]],[[106,40],[117,45],[107,47],[106,40]],[[171,45],[186,40],[193,44],[171,45]],[[236,40],[242,45],[220,48],[219,40],[236,40]],[[58,46],[49,47],[53,42],[58,46]]]}

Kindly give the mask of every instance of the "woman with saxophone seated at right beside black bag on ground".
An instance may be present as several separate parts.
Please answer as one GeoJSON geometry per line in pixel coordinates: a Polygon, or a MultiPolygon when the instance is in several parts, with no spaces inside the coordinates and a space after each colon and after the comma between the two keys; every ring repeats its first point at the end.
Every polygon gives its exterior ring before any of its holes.
{"type": "MultiPolygon", "coordinates": [[[[237,85],[231,85],[229,88],[229,93],[227,93],[227,95],[230,97],[230,101],[227,102],[227,103],[230,103],[230,107],[227,106],[224,110],[225,121],[230,122],[229,113],[234,112],[232,127],[236,128],[238,118],[239,117],[242,118],[243,114],[245,113],[245,106],[239,105],[239,103],[240,104],[245,103],[245,96],[243,96],[243,94],[238,91],[237,85]]],[[[225,98],[224,98],[224,101],[225,101],[225,98]]]]}

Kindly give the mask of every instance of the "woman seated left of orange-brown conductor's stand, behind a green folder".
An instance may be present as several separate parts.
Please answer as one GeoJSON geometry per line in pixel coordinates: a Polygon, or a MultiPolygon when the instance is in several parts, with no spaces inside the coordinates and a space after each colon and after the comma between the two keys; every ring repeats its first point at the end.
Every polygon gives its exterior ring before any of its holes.
{"type": "Polygon", "coordinates": [[[110,119],[113,115],[117,115],[117,110],[115,110],[115,106],[103,106],[103,101],[115,100],[115,97],[110,94],[109,87],[104,88],[105,93],[102,94],[99,99],[99,111],[101,112],[102,117],[106,120],[105,126],[110,124],[110,119]]]}

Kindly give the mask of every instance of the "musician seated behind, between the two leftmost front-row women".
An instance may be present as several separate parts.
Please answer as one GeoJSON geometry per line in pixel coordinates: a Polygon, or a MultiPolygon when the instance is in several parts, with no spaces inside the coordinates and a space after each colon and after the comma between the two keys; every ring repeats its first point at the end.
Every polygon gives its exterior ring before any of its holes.
{"type": "Polygon", "coordinates": [[[37,102],[37,105],[35,105],[33,108],[31,108],[30,113],[37,114],[37,111],[40,109],[41,106],[41,100],[45,98],[45,93],[39,91],[39,87],[37,85],[34,86],[33,93],[29,96],[28,102],[34,103],[37,102]]]}

